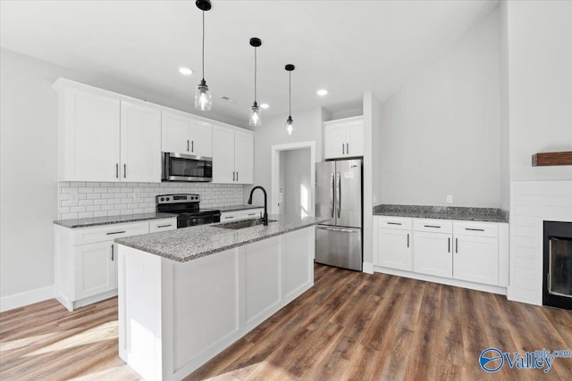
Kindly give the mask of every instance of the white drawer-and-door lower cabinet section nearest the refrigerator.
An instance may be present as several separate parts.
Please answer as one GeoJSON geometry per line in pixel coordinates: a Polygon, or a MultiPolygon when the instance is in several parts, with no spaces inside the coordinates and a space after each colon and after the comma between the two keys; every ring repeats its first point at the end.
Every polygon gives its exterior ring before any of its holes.
{"type": "Polygon", "coordinates": [[[384,217],[376,219],[377,261],[390,269],[413,269],[411,219],[384,217]]]}

